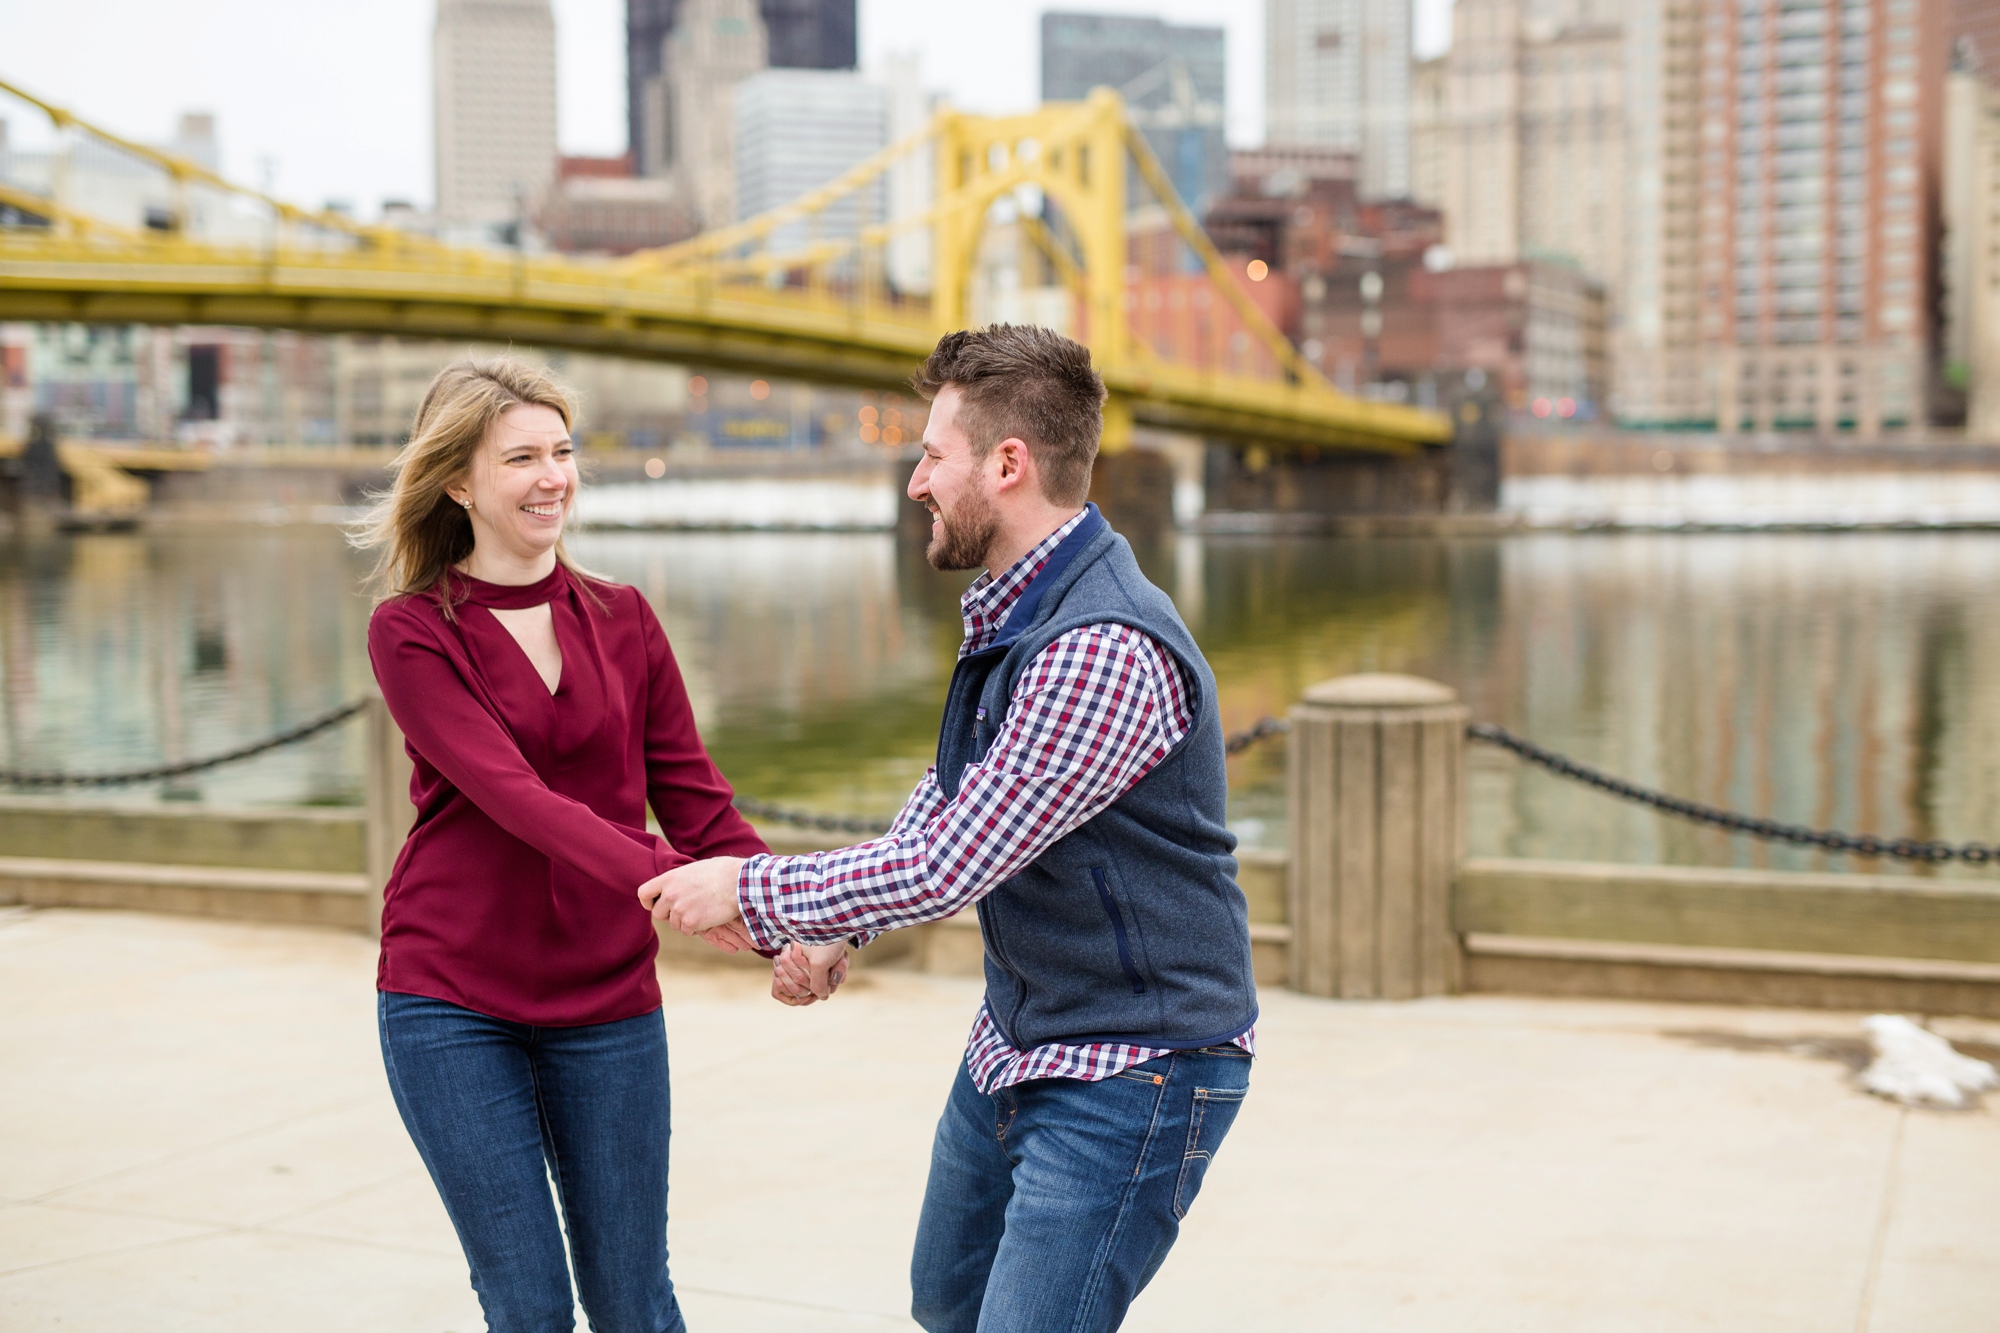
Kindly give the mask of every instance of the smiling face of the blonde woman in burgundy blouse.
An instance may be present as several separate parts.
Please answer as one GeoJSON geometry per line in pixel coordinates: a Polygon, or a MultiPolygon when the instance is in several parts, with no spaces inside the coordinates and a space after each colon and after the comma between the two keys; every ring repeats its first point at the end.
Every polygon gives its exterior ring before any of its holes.
{"type": "Polygon", "coordinates": [[[546,406],[510,406],[450,496],[472,500],[466,512],[476,548],[526,560],[546,554],[576,498],[576,446],[562,416],[546,406]]]}

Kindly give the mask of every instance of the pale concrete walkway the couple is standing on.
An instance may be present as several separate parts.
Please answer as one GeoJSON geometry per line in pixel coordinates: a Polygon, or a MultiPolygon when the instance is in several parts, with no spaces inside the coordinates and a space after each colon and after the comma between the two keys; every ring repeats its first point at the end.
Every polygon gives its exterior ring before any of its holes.
{"type": "MultiPolygon", "coordinates": [[[[912,1329],[976,983],[874,971],[800,1013],[740,971],[662,981],[688,1325],[912,1329]]],[[[476,1333],[372,985],[336,931],[0,915],[0,1329],[476,1333]]],[[[1264,1003],[1132,1329],[2000,1327],[2000,1115],[1858,1093],[1854,1015],[1264,1003]]]]}

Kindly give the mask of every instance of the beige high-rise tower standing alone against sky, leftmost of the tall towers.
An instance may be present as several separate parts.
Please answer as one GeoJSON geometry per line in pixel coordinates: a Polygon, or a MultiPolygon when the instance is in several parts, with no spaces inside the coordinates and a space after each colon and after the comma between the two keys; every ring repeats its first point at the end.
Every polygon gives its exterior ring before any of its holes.
{"type": "Polygon", "coordinates": [[[518,222],[556,168],[548,0],[438,0],[432,30],[438,220],[518,222]]]}

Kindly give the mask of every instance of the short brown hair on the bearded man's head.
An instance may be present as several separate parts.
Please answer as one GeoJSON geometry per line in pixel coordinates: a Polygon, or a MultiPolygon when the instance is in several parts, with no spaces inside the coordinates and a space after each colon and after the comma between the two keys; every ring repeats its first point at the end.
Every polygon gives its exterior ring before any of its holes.
{"type": "Polygon", "coordinates": [[[1052,504],[1090,498],[1090,464],[1104,432],[1104,380],[1090,348],[1048,328],[992,324],[944,334],[912,380],[926,400],[946,384],[960,394],[958,422],[984,458],[1010,436],[1026,440],[1052,504]]]}

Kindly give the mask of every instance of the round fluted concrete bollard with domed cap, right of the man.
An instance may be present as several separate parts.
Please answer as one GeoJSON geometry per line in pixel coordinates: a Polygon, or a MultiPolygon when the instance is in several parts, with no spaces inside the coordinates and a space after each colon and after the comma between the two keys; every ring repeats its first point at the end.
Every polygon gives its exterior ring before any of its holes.
{"type": "Polygon", "coordinates": [[[1294,991],[1458,989],[1450,895],[1466,843],[1466,717],[1448,687],[1392,675],[1314,685],[1292,709],[1294,991]]]}

